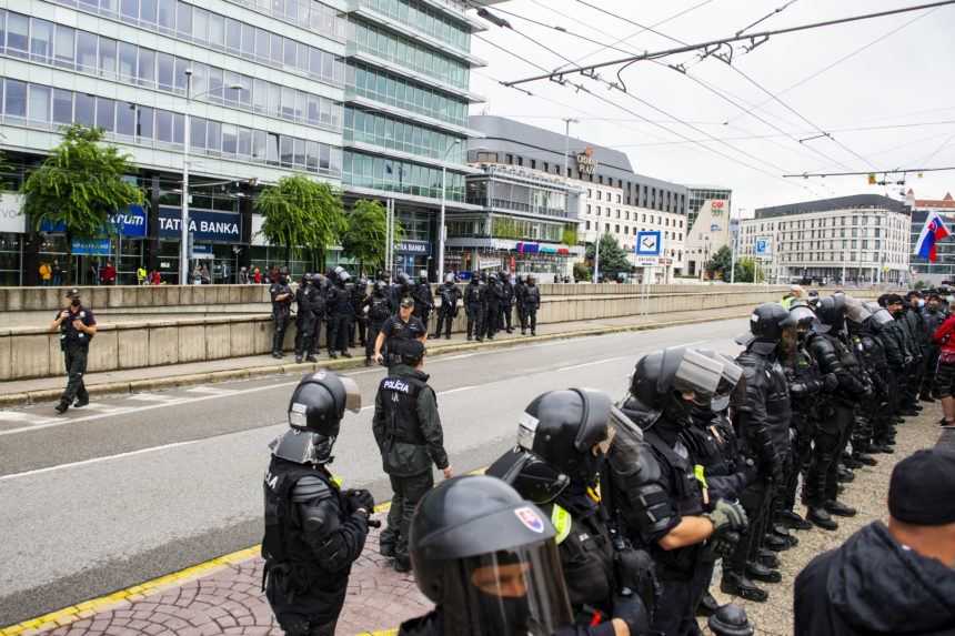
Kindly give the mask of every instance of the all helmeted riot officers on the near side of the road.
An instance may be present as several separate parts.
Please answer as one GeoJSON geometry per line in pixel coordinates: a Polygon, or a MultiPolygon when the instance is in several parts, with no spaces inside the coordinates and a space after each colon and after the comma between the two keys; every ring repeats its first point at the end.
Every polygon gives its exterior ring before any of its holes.
{"type": "MultiPolygon", "coordinates": [[[[701,634],[700,614],[714,634],[753,634],[742,608],[705,600],[715,565],[725,593],[766,600],[756,582],[782,579],[791,529],[832,531],[833,515],[855,514],[838,501],[853,467],[891,453],[899,415],[917,411],[917,330],[928,329],[917,301],[766,303],[735,359],[651,353],[616,404],[591,388],[539,395],[485,475],[419,502],[409,553],[435,608],[400,634],[683,636],[701,634]],[[800,475],[808,521],[793,509],[800,475]]],[[[267,474],[265,588],[295,636],[333,634],[373,511],[328,468],[346,407],[360,408],[350,378],[303,378],[277,441],[296,450],[273,455],[267,474]],[[290,597],[299,605],[283,606],[290,597]]]]}

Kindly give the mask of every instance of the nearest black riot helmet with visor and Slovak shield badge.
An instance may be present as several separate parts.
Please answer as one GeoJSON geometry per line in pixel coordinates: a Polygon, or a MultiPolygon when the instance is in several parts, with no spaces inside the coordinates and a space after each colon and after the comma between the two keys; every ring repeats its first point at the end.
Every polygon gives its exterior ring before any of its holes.
{"type": "Polygon", "coordinates": [[[573,622],[551,522],[514,488],[454,477],[411,519],[414,579],[455,636],[553,634],[573,622]]]}

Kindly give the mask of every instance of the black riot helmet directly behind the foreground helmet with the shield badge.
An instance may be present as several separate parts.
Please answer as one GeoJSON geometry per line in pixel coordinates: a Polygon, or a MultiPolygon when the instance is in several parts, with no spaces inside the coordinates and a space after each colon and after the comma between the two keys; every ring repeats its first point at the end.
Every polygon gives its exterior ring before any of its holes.
{"type": "Polygon", "coordinates": [[[590,484],[600,470],[594,446],[610,442],[610,396],[594,388],[550,391],[535,397],[517,425],[517,445],[557,471],[590,484]]]}

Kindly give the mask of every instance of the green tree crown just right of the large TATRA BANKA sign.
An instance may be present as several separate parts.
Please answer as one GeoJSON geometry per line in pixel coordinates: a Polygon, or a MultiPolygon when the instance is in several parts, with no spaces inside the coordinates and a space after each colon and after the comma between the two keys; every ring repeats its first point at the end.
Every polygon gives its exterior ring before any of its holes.
{"type": "Polygon", "coordinates": [[[341,193],[328,183],[304,174],[283,176],[255,200],[262,214],[261,233],[272,245],[285,249],[285,266],[303,249],[319,253],[324,267],[325,248],[335,244],[345,230],[341,193]]]}

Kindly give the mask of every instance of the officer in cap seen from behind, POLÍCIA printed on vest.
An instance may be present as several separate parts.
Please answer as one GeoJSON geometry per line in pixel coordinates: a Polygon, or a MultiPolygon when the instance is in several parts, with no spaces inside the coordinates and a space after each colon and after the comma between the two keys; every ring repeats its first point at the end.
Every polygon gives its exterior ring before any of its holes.
{"type": "Polygon", "coordinates": [[[394,558],[396,572],[409,572],[408,536],[411,516],[421,497],[434,486],[431,465],[453,475],[444,450],[444,433],[438,414],[438,398],[424,373],[424,343],[416,340],[392,342],[389,355],[395,364],[381,381],[374,401],[372,432],[382,468],[393,493],[388,528],[382,531],[381,554],[394,558]]]}

